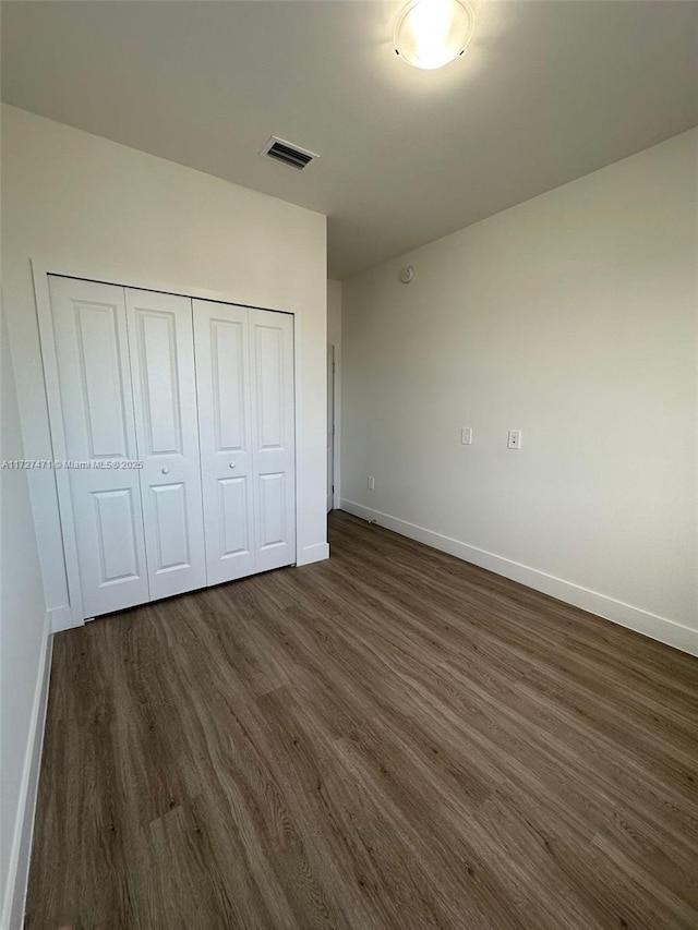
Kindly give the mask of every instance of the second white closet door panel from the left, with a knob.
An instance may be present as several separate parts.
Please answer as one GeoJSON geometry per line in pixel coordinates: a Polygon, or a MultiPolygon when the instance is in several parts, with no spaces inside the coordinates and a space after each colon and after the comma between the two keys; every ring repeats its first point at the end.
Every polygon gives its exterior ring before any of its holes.
{"type": "Polygon", "coordinates": [[[127,289],[151,597],[206,584],[192,305],[127,289]]]}

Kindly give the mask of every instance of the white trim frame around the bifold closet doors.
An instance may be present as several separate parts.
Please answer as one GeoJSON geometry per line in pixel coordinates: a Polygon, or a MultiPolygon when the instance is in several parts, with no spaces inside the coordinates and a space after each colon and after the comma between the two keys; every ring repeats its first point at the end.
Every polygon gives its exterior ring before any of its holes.
{"type": "MultiPolygon", "coordinates": [[[[64,261],[51,261],[45,257],[29,258],[32,278],[34,281],[34,298],[39,329],[39,348],[41,352],[41,366],[46,389],[46,401],[48,408],[49,438],[51,444],[51,457],[53,461],[65,461],[68,452],[65,447],[65,427],[63,424],[63,410],[61,403],[60,382],[58,376],[58,355],[56,341],[53,339],[53,314],[51,311],[51,298],[48,286],[49,275],[62,278],[80,278],[81,280],[97,281],[105,285],[115,285],[120,288],[132,288],[134,290],[156,291],[157,293],[177,294],[191,298],[192,300],[210,300],[218,303],[229,303],[236,306],[246,306],[253,310],[270,310],[276,313],[288,313],[293,316],[293,435],[294,435],[294,509],[296,509],[296,558],[301,551],[298,539],[298,411],[301,408],[300,378],[298,372],[298,358],[300,348],[300,334],[302,326],[302,314],[298,314],[293,307],[287,306],[257,306],[245,303],[240,297],[233,297],[221,291],[212,291],[195,285],[185,288],[172,288],[172,285],[154,278],[144,278],[125,274],[115,274],[113,268],[85,268],[75,267],[64,261]]],[[[56,497],[58,500],[58,512],[63,551],[63,565],[68,584],[68,604],[61,604],[51,608],[51,613],[61,617],[60,625],[53,626],[53,632],[59,629],[80,627],[85,623],[82,584],[77,565],[77,544],[75,536],[75,522],[71,505],[70,479],[65,469],[51,469],[56,497]]],[[[32,492],[29,492],[32,494],[32,492]]],[[[36,520],[36,515],[35,515],[36,520]]],[[[40,558],[41,573],[45,566],[40,558]]]]}

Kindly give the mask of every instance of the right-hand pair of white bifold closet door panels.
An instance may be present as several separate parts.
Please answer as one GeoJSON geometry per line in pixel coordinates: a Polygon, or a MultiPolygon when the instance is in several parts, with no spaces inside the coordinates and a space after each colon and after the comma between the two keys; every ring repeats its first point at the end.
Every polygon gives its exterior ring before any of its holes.
{"type": "Polygon", "coordinates": [[[208,583],[296,560],[293,318],[193,302],[208,583]]]}

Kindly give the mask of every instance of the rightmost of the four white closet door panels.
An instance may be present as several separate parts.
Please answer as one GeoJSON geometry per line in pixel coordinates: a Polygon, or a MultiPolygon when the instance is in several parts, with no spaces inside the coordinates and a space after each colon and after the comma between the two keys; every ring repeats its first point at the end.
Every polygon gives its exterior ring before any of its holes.
{"type": "Polygon", "coordinates": [[[296,561],[293,317],[250,311],[256,570],[296,561]]]}

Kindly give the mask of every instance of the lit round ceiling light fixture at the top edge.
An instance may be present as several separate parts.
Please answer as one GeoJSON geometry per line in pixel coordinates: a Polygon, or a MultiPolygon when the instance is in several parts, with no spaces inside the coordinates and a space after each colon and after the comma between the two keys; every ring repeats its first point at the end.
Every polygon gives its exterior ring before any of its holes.
{"type": "Polygon", "coordinates": [[[468,0],[411,0],[395,25],[395,51],[414,68],[443,68],[464,53],[474,28],[468,0]]]}

